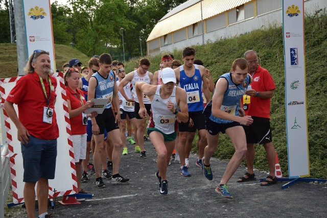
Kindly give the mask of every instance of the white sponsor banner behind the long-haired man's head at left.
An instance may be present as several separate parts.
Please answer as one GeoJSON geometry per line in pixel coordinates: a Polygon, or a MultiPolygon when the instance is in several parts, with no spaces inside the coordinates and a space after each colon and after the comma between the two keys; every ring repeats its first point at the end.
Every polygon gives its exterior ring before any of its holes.
{"type": "Polygon", "coordinates": [[[47,51],[50,53],[51,69],[56,71],[50,0],[21,1],[24,3],[27,57],[35,50],[47,51]]]}

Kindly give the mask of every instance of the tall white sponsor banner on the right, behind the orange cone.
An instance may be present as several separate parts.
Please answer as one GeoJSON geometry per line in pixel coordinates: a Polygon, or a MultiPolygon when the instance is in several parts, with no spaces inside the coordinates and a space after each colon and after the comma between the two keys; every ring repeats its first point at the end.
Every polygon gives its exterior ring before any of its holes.
{"type": "Polygon", "coordinates": [[[304,14],[303,0],[283,0],[285,107],[290,178],[310,176],[304,14]]]}

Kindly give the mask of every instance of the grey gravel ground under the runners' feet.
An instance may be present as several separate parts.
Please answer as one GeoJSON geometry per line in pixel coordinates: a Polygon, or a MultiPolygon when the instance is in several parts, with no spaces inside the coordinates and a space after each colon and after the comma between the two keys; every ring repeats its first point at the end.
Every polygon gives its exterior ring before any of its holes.
{"type": "MultiPolygon", "coordinates": [[[[129,154],[122,156],[120,174],[130,178],[124,185],[111,185],[99,189],[91,175],[82,188],[95,196],[79,205],[55,203],[50,210],[53,217],[326,217],[327,188],[325,183],[295,183],[282,190],[285,183],[260,186],[259,179],[266,174],[255,172],[256,181],[237,183],[246,168],[239,167],[228,182],[233,200],[215,192],[227,165],[226,161],[212,158],[214,180],[208,181],[195,165],[196,154],[190,156],[192,177],[182,177],[179,164],[168,167],[168,195],[159,194],[155,150],[151,142],[145,143],[147,159],[140,159],[128,145],[129,154]]],[[[283,171],[283,169],[282,169],[283,171]]],[[[57,201],[60,199],[57,199],[57,201]]],[[[16,206],[18,207],[18,206],[16,206]]],[[[26,214],[19,209],[20,215],[26,214]]],[[[37,211],[36,211],[37,212],[37,211]]],[[[10,212],[9,212],[10,214],[10,212]]],[[[37,213],[36,213],[37,214],[37,213]]],[[[11,216],[16,217],[16,216],[11,216]]]]}

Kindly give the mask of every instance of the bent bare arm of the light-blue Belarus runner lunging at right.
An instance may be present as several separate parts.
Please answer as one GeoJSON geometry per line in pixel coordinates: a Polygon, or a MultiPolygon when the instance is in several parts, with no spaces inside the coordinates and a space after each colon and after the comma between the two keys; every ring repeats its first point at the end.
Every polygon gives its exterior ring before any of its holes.
{"type": "Polygon", "coordinates": [[[227,90],[228,82],[225,78],[220,78],[216,84],[216,90],[213,96],[213,105],[212,105],[212,113],[214,116],[219,117],[221,119],[232,120],[242,125],[248,126],[252,124],[253,119],[251,116],[235,116],[230,113],[223,111],[221,108],[224,93],[227,90]]]}

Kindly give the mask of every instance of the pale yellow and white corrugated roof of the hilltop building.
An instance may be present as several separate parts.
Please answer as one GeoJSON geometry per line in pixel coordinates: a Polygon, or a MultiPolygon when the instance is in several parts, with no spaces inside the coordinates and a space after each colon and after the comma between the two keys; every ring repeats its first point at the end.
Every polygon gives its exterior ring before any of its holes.
{"type": "MultiPolygon", "coordinates": [[[[251,0],[202,0],[203,19],[215,16],[248,2],[251,2],[251,0]]],[[[177,6],[160,19],[160,21],[151,31],[147,41],[164,36],[201,21],[200,1],[190,0],[181,4],[180,6],[177,6]]]]}

